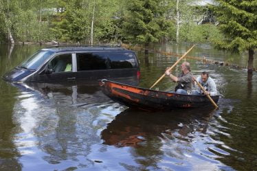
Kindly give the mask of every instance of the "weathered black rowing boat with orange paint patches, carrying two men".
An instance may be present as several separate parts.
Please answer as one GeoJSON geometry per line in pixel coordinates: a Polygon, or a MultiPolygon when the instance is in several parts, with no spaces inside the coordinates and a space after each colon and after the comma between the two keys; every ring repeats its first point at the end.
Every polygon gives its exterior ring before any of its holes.
{"type": "MultiPolygon", "coordinates": [[[[167,111],[176,108],[212,106],[212,102],[205,95],[156,91],[110,80],[100,80],[99,84],[102,92],[111,100],[136,109],[167,111]]],[[[212,100],[218,102],[219,95],[212,96],[212,100]]]]}

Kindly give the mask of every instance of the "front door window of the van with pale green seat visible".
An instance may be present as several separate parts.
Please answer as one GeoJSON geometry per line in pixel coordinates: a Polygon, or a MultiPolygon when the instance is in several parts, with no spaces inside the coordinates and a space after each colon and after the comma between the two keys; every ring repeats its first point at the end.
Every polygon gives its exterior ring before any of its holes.
{"type": "Polygon", "coordinates": [[[55,73],[72,71],[71,54],[56,56],[48,63],[48,68],[53,69],[55,73]]]}

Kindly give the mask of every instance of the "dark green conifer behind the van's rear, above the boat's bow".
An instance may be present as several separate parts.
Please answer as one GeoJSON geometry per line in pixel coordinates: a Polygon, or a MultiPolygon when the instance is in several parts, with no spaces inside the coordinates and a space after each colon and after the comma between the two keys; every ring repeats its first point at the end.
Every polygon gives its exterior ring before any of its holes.
{"type": "Polygon", "coordinates": [[[148,45],[159,41],[168,33],[170,22],[166,21],[166,1],[130,0],[124,17],[123,31],[126,40],[148,45]]]}

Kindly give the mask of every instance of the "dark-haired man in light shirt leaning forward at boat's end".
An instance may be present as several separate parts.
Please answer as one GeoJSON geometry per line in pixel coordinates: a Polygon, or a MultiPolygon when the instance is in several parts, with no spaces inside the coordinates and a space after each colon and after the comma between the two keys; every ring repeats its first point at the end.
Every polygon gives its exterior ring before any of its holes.
{"type": "Polygon", "coordinates": [[[216,84],[212,78],[210,78],[209,73],[207,71],[203,71],[201,73],[201,76],[197,78],[197,82],[199,82],[203,88],[205,89],[205,93],[201,90],[200,87],[198,87],[197,90],[192,91],[192,94],[194,95],[217,95],[217,89],[216,84]]]}

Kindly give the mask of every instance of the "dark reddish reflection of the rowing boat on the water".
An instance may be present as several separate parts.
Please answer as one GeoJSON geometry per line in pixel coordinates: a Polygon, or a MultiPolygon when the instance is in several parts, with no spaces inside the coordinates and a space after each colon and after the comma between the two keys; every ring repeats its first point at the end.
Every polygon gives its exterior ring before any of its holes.
{"type": "Polygon", "coordinates": [[[102,130],[103,144],[111,146],[139,147],[159,137],[168,135],[192,141],[197,133],[205,134],[214,111],[202,109],[180,109],[169,112],[145,112],[127,109],[117,115],[107,128],[102,130]]]}

